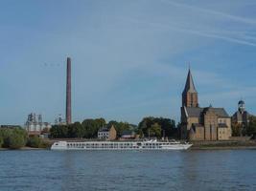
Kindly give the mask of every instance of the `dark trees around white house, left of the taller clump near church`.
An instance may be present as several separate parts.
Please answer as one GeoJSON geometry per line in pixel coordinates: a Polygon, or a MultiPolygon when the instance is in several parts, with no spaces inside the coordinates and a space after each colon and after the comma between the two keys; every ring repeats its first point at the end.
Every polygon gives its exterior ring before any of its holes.
{"type": "Polygon", "coordinates": [[[111,120],[108,123],[105,118],[89,118],[82,122],[75,122],[70,125],[54,125],[50,130],[51,138],[97,138],[98,131],[102,127],[111,127],[114,125],[117,137],[121,137],[124,130],[130,130],[134,125],[128,122],[118,122],[111,120]]]}

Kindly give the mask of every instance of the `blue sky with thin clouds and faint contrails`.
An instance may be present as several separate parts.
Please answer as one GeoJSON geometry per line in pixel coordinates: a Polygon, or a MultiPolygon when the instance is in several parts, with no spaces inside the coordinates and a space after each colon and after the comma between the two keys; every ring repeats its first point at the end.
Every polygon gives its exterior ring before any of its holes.
{"type": "Polygon", "coordinates": [[[73,121],[179,121],[189,65],[199,104],[256,114],[254,0],[1,0],[0,124],[65,113],[73,121]]]}

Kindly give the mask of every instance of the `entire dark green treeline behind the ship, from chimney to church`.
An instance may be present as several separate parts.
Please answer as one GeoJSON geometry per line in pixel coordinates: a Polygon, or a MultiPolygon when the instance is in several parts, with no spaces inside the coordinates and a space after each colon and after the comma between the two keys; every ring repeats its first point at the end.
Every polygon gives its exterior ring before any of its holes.
{"type": "Polygon", "coordinates": [[[117,138],[121,138],[125,130],[134,131],[141,138],[177,138],[175,120],[163,117],[145,117],[136,125],[128,122],[118,122],[105,118],[85,119],[82,122],[75,122],[70,125],[54,125],[50,130],[50,138],[97,138],[98,131],[102,127],[110,128],[114,126],[117,131],[117,138]]]}

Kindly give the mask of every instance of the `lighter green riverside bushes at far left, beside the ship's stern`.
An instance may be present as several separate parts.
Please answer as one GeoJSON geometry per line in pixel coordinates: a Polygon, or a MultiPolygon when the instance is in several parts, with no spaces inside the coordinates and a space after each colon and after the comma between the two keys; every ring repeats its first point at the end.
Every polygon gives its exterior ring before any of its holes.
{"type": "Polygon", "coordinates": [[[0,129],[0,148],[20,149],[24,146],[46,148],[49,145],[37,136],[29,138],[21,127],[0,129]]]}

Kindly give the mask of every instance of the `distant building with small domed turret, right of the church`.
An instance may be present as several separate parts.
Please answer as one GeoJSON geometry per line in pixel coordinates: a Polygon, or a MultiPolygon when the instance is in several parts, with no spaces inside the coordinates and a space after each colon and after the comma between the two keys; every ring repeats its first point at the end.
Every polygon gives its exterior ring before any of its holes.
{"type": "Polygon", "coordinates": [[[243,130],[246,129],[249,125],[249,117],[250,114],[245,110],[244,100],[240,100],[238,102],[238,111],[232,116],[232,122],[241,125],[241,136],[243,130]]]}

